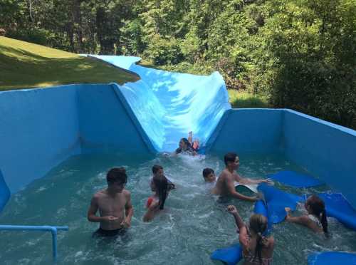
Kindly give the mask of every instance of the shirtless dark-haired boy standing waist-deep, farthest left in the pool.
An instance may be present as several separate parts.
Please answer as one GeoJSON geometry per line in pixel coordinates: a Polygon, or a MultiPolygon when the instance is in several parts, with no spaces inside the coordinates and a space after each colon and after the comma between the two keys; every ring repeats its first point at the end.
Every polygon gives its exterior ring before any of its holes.
{"type": "Polygon", "coordinates": [[[130,227],[133,208],[131,195],[125,189],[127,182],[124,167],[114,167],[106,175],[108,188],[95,193],[88,209],[89,222],[99,222],[100,228],[95,232],[102,237],[113,237],[125,232],[130,227]],[[96,212],[100,213],[100,217],[96,212]]]}

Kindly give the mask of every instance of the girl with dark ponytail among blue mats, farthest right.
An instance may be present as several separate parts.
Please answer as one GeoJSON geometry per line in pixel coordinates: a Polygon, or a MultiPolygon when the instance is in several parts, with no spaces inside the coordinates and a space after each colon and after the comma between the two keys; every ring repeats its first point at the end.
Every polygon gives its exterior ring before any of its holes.
{"type": "Polygon", "coordinates": [[[290,208],[286,207],[286,221],[302,224],[303,226],[312,229],[314,232],[324,232],[325,235],[328,236],[328,219],[326,219],[325,203],[323,200],[316,195],[311,195],[305,201],[304,206],[308,214],[299,217],[292,217],[290,208]]]}

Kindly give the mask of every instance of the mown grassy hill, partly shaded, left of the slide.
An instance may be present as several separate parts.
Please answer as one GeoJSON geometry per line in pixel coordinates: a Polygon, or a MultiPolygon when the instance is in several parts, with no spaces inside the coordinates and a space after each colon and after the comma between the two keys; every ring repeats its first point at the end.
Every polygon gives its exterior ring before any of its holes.
{"type": "Polygon", "coordinates": [[[0,36],[0,90],[137,79],[101,61],[0,36]]]}

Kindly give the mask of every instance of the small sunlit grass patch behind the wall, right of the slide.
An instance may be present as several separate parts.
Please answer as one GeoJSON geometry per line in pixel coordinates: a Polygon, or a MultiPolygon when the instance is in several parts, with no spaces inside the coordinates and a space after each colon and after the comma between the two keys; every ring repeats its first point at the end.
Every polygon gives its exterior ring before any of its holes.
{"type": "Polygon", "coordinates": [[[253,95],[239,90],[228,90],[228,92],[232,108],[271,108],[268,98],[262,95],[253,95]]]}

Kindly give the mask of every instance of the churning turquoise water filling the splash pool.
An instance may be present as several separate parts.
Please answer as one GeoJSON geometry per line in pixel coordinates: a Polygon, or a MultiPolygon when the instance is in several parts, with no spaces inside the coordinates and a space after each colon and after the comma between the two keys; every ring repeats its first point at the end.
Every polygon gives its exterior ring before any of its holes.
{"type": "MultiPolygon", "coordinates": [[[[234,204],[245,221],[253,204],[232,199],[219,203],[209,194],[201,171],[224,169],[222,157],[123,157],[120,155],[80,155],[51,170],[14,194],[0,216],[0,224],[68,225],[58,233],[58,264],[220,264],[211,261],[217,248],[238,241],[233,218],[226,212],[234,204]],[[150,196],[149,179],[154,164],[177,185],[169,194],[164,212],[153,222],[143,223],[145,202],[150,196]],[[98,224],[86,219],[93,194],[106,187],[110,167],[125,166],[127,189],[135,209],[132,227],[124,237],[93,239],[98,224]]],[[[263,177],[280,170],[302,171],[278,155],[240,156],[240,174],[263,177]]],[[[328,187],[290,191],[324,191],[328,187]]],[[[283,222],[274,226],[276,239],[273,264],[306,264],[311,251],[355,251],[356,232],[330,219],[330,239],[308,229],[283,222]]],[[[51,234],[44,232],[0,232],[1,264],[51,264],[51,234]]]]}

